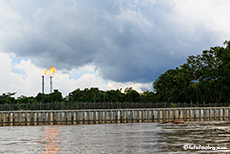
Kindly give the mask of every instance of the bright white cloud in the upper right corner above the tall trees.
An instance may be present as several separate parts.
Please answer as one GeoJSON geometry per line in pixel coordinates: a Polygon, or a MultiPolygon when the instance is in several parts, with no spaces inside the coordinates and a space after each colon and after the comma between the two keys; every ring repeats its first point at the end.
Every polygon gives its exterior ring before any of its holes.
{"type": "MultiPolygon", "coordinates": [[[[216,38],[212,38],[215,45],[223,43],[229,38],[230,16],[227,13],[230,1],[223,0],[177,0],[175,1],[175,19],[182,23],[184,28],[196,33],[196,28],[200,25],[210,33],[215,33],[216,38]]],[[[182,27],[182,28],[183,28],[182,27]]],[[[192,39],[192,36],[191,36],[192,39]]],[[[196,39],[196,38],[194,38],[196,39]]]]}

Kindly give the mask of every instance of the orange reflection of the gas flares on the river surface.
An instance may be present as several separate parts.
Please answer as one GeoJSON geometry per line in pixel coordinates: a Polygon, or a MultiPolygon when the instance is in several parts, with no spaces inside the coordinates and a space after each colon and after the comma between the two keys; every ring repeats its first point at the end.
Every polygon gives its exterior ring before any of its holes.
{"type": "Polygon", "coordinates": [[[44,139],[41,140],[44,144],[43,153],[57,153],[57,151],[60,151],[62,149],[62,147],[58,144],[61,140],[61,138],[59,137],[58,126],[44,126],[42,128],[42,133],[44,135],[44,139]]]}

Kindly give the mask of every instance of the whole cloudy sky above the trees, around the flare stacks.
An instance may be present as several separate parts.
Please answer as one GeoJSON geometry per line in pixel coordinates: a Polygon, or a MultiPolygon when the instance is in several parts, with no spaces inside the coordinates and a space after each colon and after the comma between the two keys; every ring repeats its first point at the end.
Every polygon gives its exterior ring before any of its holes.
{"type": "Polygon", "coordinates": [[[36,96],[51,66],[63,96],[152,91],[188,55],[229,40],[229,8],[229,0],[0,0],[0,94],[36,96]]]}

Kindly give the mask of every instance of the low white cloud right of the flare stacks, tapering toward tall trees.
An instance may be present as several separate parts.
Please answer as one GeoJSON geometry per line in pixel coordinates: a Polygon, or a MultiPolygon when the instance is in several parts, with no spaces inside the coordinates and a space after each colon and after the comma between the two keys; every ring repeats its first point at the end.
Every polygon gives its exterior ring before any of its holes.
{"type": "MultiPolygon", "coordinates": [[[[78,76],[77,75],[77,76],[78,76]]],[[[59,89],[64,95],[69,92],[80,88],[81,90],[85,88],[97,87],[100,90],[111,90],[120,89],[125,90],[127,87],[132,87],[138,92],[144,90],[152,90],[152,83],[132,83],[132,82],[114,82],[109,80],[104,80],[100,74],[95,70],[93,65],[85,65],[78,69],[73,69],[68,72],[57,71],[53,77],[54,88],[59,89]],[[70,74],[78,74],[79,78],[71,79],[70,74]],[[81,74],[81,75],[80,75],[81,74]]]]}

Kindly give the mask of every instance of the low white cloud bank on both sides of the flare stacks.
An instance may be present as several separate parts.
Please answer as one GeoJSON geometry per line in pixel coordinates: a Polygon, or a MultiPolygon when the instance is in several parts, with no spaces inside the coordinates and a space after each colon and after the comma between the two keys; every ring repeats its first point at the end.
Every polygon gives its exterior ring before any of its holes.
{"type": "MultiPolygon", "coordinates": [[[[49,70],[49,68],[46,69],[49,70]]],[[[31,63],[30,59],[22,59],[19,63],[14,64],[8,54],[0,52],[0,72],[2,74],[0,93],[17,92],[16,97],[19,97],[21,95],[36,96],[41,92],[43,69],[31,63]]],[[[93,64],[70,71],[57,70],[53,75],[53,89],[58,89],[62,92],[63,96],[68,95],[69,92],[77,88],[98,87],[101,90],[110,90],[133,87],[141,92],[143,87],[149,89],[149,85],[150,84],[105,81],[95,70],[93,64]],[[70,78],[71,75],[75,76],[75,74],[78,74],[76,75],[78,78],[70,78]]],[[[45,93],[49,93],[49,91],[50,78],[48,72],[45,75],[45,93]]]]}

